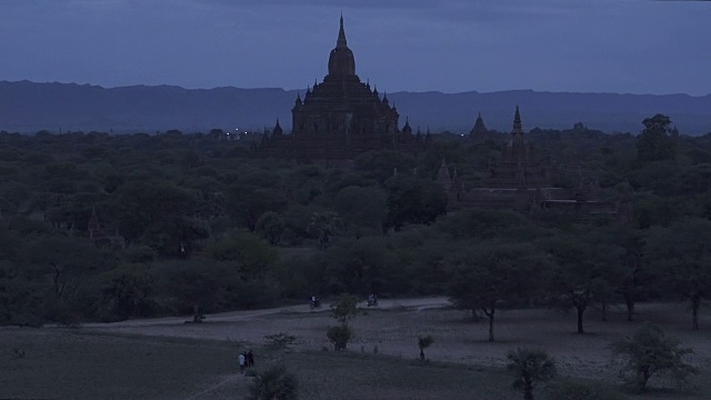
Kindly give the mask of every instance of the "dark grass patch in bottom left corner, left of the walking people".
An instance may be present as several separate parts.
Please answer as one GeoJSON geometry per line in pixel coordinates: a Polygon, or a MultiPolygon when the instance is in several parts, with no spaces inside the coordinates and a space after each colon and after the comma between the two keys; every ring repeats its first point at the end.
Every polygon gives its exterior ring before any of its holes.
{"type": "Polygon", "coordinates": [[[0,398],[187,399],[237,370],[228,342],[54,329],[0,330],[0,398]]]}

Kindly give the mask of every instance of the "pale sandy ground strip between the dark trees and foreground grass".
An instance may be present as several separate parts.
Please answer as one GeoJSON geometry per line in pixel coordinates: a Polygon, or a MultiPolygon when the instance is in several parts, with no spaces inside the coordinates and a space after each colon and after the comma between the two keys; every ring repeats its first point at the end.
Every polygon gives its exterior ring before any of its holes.
{"type": "MultiPolygon", "coordinates": [[[[321,309],[308,303],[266,310],[233,311],[207,316],[204,323],[184,323],[191,317],[132,320],[114,323],[88,323],[82,329],[103,332],[226,340],[238,349],[259,348],[266,336],[289,333],[297,338],[294,350],[332,348],[326,330],[337,322],[330,317],[328,301],[321,309]]],[[[711,368],[709,329],[691,331],[685,304],[639,304],[638,322],[628,322],[622,309],[609,312],[609,321],[590,310],[585,314],[588,333],[575,331],[574,313],[555,310],[508,310],[497,313],[495,342],[487,341],[488,323],[467,322],[461,311],[449,309],[445,298],[382,299],[380,307],[368,309],[368,316],[351,321],[351,351],[377,351],[404,358],[417,358],[417,340],[431,334],[434,343],[427,357],[478,366],[501,367],[505,353],[517,347],[542,348],[557,360],[564,374],[583,378],[618,379],[612,366],[610,342],[629,336],[639,321],[660,324],[664,331],[695,350],[692,363],[702,370],[711,368]]],[[[704,321],[707,316],[703,316],[704,321]]]]}

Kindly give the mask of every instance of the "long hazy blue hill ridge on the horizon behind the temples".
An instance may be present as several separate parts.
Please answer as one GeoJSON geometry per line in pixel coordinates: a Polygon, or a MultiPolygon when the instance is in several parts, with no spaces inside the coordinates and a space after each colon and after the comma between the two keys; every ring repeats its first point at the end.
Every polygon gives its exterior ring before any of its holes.
{"type": "MultiPolygon", "coordinates": [[[[303,93],[303,90],[301,91],[303,93]]],[[[303,94],[302,94],[303,96],[303,94]]],[[[262,129],[277,118],[291,128],[297,90],[183,89],[172,86],[132,86],[106,89],[76,83],[0,81],[0,130],[183,132],[262,129]]],[[[711,132],[711,94],[617,94],[512,90],[491,93],[394,92],[401,124],[429,126],[433,132],[468,132],[481,112],[488,128],[511,129],[515,106],[525,130],[571,128],[583,122],[602,131],[639,132],[641,121],[658,112],[671,117],[682,134],[711,132]]]]}

